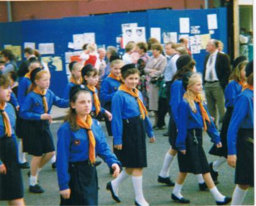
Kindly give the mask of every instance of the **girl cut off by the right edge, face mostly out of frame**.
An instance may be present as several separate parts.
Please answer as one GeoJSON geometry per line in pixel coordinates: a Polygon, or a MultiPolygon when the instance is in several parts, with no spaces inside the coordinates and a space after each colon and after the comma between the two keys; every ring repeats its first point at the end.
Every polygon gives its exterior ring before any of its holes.
{"type": "Polygon", "coordinates": [[[236,168],[231,205],[242,205],[254,186],[254,61],[246,66],[247,85],[235,101],[228,126],[228,164],[236,168]]]}

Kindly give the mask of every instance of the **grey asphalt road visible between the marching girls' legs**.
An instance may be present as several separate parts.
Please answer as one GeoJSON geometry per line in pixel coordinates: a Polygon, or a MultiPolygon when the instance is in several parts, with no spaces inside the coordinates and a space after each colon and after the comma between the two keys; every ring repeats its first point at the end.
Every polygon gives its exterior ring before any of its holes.
{"type": "MultiPolygon", "coordinates": [[[[63,115],[64,110],[53,109],[53,116],[59,119],[63,115]]],[[[168,123],[168,116],[166,116],[166,123],[168,123]]],[[[153,122],[153,118],[150,118],[153,122]]],[[[60,127],[61,121],[55,121],[51,125],[51,130],[54,136],[54,142],[56,143],[56,132],[60,127]]],[[[104,130],[106,131],[105,123],[101,122],[104,130]]],[[[143,175],[143,189],[145,199],[150,205],[180,205],[177,202],[171,200],[172,187],[161,185],[157,182],[158,174],[163,164],[163,159],[166,152],[169,149],[168,137],[164,137],[162,134],[165,130],[155,131],[155,137],[157,141],[153,144],[147,142],[147,161],[148,167],[144,169],[143,175]]],[[[106,133],[107,134],[107,133],[106,133]]],[[[112,137],[107,137],[107,142],[112,148],[112,137]]],[[[217,159],[215,156],[209,155],[208,151],[211,148],[212,143],[208,135],[204,134],[203,145],[208,156],[208,161],[214,161],[217,159]]],[[[30,159],[28,157],[28,159],[30,159]]],[[[117,204],[111,198],[111,194],[106,191],[106,183],[113,180],[109,175],[109,169],[107,164],[103,162],[97,167],[98,179],[99,179],[99,205],[134,205],[134,192],[131,178],[128,178],[123,182],[118,190],[118,196],[122,200],[120,204],[117,204]]],[[[177,164],[177,158],[174,159],[173,165],[170,170],[170,175],[173,180],[176,180],[179,168],[177,164]]],[[[56,178],[56,170],[53,170],[50,163],[48,163],[39,174],[39,180],[42,188],[45,189],[43,194],[31,194],[28,193],[28,177],[26,173],[28,169],[23,169],[23,181],[25,187],[25,200],[26,205],[59,205],[60,196],[58,191],[58,182],[56,178]]],[[[219,172],[219,185],[217,188],[225,196],[232,196],[234,184],[235,170],[229,167],[227,164],[220,168],[219,172]]],[[[182,188],[182,194],[184,197],[191,200],[190,205],[215,205],[214,198],[209,191],[199,191],[198,183],[194,175],[189,174],[185,180],[182,188]]],[[[7,205],[6,202],[0,202],[0,205],[7,205]]],[[[254,205],[254,188],[250,188],[247,193],[244,205],[254,205]]]]}

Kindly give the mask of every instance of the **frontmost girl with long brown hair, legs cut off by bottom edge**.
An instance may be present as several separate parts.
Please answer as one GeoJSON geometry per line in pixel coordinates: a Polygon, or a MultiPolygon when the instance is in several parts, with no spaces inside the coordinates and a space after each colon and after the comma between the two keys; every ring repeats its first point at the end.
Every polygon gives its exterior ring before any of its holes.
{"type": "Polygon", "coordinates": [[[58,130],[60,205],[98,205],[96,156],[114,169],[113,177],[119,174],[120,162],[108,147],[101,125],[90,116],[92,97],[85,86],[73,86],[69,101],[69,113],[58,130]]]}

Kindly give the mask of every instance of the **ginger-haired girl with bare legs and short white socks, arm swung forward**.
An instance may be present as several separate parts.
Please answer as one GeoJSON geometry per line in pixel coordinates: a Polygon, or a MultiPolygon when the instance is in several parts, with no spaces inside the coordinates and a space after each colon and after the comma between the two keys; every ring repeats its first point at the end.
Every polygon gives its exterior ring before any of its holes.
{"type": "Polygon", "coordinates": [[[53,157],[55,148],[50,132],[52,105],[67,108],[69,101],[60,99],[50,86],[50,73],[40,67],[30,74],[31,86],[20,109],[20,117],[26,120],[24,128],[27,140],[23,140],[23,149],[33,155],[29,177],[29,192],[44,193],[44,189],[37,182],[42,167],[53,157]]]}

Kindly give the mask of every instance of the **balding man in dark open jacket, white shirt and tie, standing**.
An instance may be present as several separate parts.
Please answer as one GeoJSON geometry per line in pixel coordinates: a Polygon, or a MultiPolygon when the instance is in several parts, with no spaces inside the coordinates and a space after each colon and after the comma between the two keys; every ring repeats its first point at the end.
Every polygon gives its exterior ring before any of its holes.
{"type": "MultiPolygon", "coordinates": [[[[204,61],[204,90],[208,109],[215,118],[217,126],[217,110],[219,113],[219,123],[222,123],[225,114],[224,93],[230,76],[230,58],[228,55],[218,51],[218,42],[215,39],[209,40],[206,51],[209,53],[204,61]]],[[[220,125],[219,125],[220,126],[220,125]]]]}

